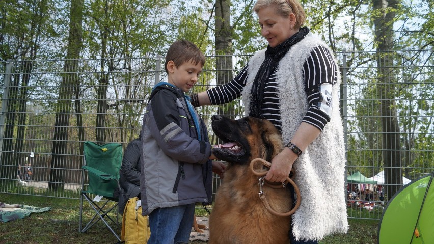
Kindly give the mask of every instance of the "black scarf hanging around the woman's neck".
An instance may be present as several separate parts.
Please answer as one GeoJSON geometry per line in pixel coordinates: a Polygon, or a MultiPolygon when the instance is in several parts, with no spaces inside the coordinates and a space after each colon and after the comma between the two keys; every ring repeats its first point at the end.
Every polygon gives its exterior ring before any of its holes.
{"type": "Polygon", "coordinates": [[[286,55],[293,45],[302,40],[309,33],[309,28],[302,27],[299,32],[292,35],[286,41],[280,43],[276,47],[270,47],[268,45],[265,51],[265,60],[256,74],[255,80],[252,85],[252,99],[250,100],[249,115],[263,119],[262,111],[262,99],[264,96],[264,87],[267,83],[270,74],[276,70],[280,60],[286,55]]]}

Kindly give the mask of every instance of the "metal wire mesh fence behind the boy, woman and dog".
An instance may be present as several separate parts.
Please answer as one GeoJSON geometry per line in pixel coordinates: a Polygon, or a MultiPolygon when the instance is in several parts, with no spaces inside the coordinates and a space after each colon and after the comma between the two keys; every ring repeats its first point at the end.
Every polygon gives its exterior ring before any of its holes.
{"type": "MultiPolygon", "coordinates": [[[[379,219],[391,197],[384,189],[397,191],[434,170],[432,55],[433,50],[336,53],[347,174],[380,176],[371,184],[348,183],[350,218],[379,219]],[[391,176],[396,173],[405,178],[396,180],[400,177],[391,176]]],[[[249,58],[208,56],[193,92],[228,82],[249,58]]],[[[160,57],[2,61],[0,66],[0,192],[60,198],[79,198],[83,142],[119,142],[125,148],[140,133],[152,87],[167,78],[160,57]],[[32,175],[26,174],[28,167],[32,175]]],[[[240,99],[198,111],[208,125],[216,113],[244,115],[240,99]]],[[[211,130],[209,135],[216,144],[211,130]]],[[[214,193],[219,184],[215,177],[214,193]]]]}

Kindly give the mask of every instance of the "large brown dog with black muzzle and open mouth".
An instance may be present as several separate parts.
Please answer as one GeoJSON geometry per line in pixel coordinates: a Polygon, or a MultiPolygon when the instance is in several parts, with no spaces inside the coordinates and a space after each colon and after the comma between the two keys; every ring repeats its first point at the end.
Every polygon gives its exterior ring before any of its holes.
{"type": "MultiPolygon", "coordinates": [[[[267,120],[253,117],[231,120],[220,115],[212,117],[212,129],[223,142],[231,144],[212,149],[217,158],[228,162],[228,167],[210,215],[209,243],[289,243],[290,216],[268,212],[258,195],[259,177],[249,169],[252,159],[271,161],[283,150],[280,132],[267,120]],[[238,147],[233,147],[233,143],[238,147]]],[[[274,210],[282,213],[291,210],[288,189],[267,184],[262,189],[274,210]]]]}

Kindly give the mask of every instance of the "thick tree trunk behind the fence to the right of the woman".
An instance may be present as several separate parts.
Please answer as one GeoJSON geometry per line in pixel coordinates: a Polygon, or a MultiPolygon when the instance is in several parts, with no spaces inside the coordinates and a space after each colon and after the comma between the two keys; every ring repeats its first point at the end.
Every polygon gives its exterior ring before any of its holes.
{"type": "Polygon", "coordinates": [[[385,185],[388,199],[395,194],[402,185],[402,165],[400,155],[400,129],[398,124],[395,85],[396,75],[393,73],[394,32],[393,24],[398,2],[395,0],[373,0],[374,12],[381,12],[374,19],[375,38],[377,44],[378,84],[377,94],[381,103],[383,163],[385,171],[385,185]]]}

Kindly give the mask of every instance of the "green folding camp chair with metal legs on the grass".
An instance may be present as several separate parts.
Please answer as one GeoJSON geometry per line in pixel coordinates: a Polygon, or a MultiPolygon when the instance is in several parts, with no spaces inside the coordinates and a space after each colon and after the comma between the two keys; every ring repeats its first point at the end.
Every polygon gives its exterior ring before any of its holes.
{"type": "Polygon", "coordinates": [[[121,239],[111,227],[112,223],[118,225],[118,199],[113,197],[113,192],[119,186],[119,169],[122,164],[122,145],[108,143],[97,145],[93,142],[85,142],[83,157],[82,191],[80,192],[80,220],[79,231],[85,233],[98,221],[110,229],[120,242],[121,239]],[[88,185],[85,185],[85,177],[88,177],[88,185]],[[95,196],[93,199],[91,196],[95,196]],[[97,200],[99,197],[103,197],[97,200]],[[95,211],[93,218],[83,226],[83,199],[86,199],[95,211]],[[115,204],[108,204],[115,202],[115,204]],[[116,210],[116,221],[108,213],[116,210]],[[109,224],[111,223],[111,224],[109,224]]]}

